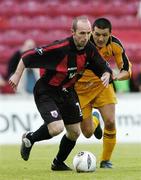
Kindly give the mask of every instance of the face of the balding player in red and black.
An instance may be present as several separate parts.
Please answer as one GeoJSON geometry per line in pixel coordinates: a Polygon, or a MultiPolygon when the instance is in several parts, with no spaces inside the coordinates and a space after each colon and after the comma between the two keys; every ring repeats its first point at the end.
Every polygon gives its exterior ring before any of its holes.
{"type": "Polygon", "coordinates": [[[83,21],[78,21],[77,23],[77,29],[76,31],[72,32],[74,42],[76,45],[77,49],[83,49],[91,34],[91,24],[89,21],[83,22],[83,21]]]}

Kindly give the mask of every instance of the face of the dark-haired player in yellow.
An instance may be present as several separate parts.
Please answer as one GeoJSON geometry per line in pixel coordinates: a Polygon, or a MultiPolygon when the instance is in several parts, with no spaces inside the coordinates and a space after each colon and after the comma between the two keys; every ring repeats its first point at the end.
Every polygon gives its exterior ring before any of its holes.
{"type": "Polygon", "coordinates": [[[100,29],[95,26],[92,35],[96,46],[102,48],[107,44],[111,33],[109,28],[100,29]]]}

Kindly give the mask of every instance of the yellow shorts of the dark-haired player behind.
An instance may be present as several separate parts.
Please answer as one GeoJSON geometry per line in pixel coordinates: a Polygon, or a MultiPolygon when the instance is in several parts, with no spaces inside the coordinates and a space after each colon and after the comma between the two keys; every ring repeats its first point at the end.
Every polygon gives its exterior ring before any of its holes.
{"type": "Polygon", "coordinates": [[[75,89],[80,100],[83,119],[91,116],[93,108],[117,103],[116,94],[112,84],[110,84],[108,88],[105,88],[102,83],[94,83],[94,85],[86,87],[86,82],[78,82],[75,89]]]}

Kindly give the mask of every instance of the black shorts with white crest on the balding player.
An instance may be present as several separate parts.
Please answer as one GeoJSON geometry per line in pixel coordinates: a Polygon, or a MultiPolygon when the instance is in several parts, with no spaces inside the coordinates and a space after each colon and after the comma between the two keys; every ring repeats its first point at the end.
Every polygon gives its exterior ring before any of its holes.
{"type": "Polygon", "coordinates": [[[45,123],[63,119],[64,124],[82,121],[82,112],[74,88],[62,89],[47,85],[42,79],[34,88],[34,99],[45,123]]]}

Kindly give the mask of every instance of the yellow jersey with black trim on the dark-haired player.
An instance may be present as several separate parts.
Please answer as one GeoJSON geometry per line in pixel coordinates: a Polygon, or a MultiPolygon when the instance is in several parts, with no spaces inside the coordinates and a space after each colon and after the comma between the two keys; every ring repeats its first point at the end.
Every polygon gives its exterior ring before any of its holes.
{"type": "MultiPolygon", "coordinates": [[[[93,44],[95,44],[92,36],[90,40],[93,44]]],[[[125,49],[123,48],[122,43],[118,38],[110,36],[107,44],[102,48],[97,47],[97,49],[100,55],[109,63],[109,65],[113,64],[114,62],[119,71],[128,71],[131,76],[131,63],[125,53],[125,49]]],[[[83,77],[79,80],[79,82],[89,81],[98,82],[100,80],[98,79],[98,77],[96,77],[96,75],[94,75],[93,72],[91,72],[90,70],[85,70],[83,77]]]]}

